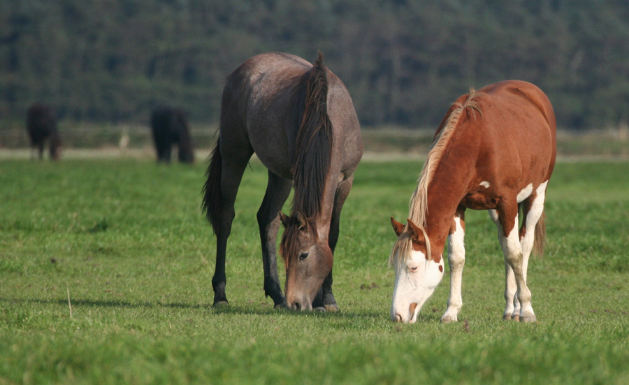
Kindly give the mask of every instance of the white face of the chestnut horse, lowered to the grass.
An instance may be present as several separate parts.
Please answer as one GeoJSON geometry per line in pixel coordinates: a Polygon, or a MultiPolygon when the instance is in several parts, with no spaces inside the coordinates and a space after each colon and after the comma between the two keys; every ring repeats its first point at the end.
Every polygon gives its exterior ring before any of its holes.
{"type": "Polygon", "coordinates": [[[437,263],[416,251],[407,262],[396,266],[391,319],[414,323],[419,310],[441,282],[443,270],[443,258],[437,263]]]}

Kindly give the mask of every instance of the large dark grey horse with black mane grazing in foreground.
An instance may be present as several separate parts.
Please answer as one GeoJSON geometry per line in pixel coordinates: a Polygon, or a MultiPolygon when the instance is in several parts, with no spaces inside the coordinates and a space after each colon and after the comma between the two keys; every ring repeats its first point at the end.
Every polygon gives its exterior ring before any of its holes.
{"type": "Polygon", "coordinates": [[[268,168],[268,185],[257,219],[264,291],[275,307],[336,310],[333,252],[340,212],[363,154],[360,125],[345,85],[326,66],[270,52],[247,59],[223,89],[219,140],[210,155],[203,210],[217,237],[214,304],[227,303],[225,249],[240,179],[253,153],[268,168]],[[290,215],[280,210],[291,187],[290,215]],[[277,275],[280,253],[286,297],[277,275]]]}

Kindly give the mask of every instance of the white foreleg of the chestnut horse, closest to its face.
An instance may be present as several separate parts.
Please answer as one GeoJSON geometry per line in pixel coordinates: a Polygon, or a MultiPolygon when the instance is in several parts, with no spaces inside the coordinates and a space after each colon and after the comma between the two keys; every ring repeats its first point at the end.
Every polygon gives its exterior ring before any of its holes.
{"type": "Polygon", "coordinates": [[[461,218],[454,217],[456,230],[448,237],[448,264],[450,266],[450,296],[448,308],[441,317],[443,322],[458,321],[458,312],[463,307],[461,298],[461,282],[463,282],[463,266],[465,265],[465,230],[461,226],[461,218]]]}

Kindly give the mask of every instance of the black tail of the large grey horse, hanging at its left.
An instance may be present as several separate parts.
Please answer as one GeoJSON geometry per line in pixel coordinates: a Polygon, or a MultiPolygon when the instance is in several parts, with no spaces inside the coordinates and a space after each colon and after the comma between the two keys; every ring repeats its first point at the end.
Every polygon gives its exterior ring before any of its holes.
{"type": "Polygon", "coordinates": [[[221,230],[221,210],[223,206],[223,199],[221,195],[221,169],[223,165],[223,157],[221,156],[220,140],[221,138],[216,141],[214,150],[212,150],[212,154],[210,154],[210,166],[208,166],[208,171],[205,173],[208,180],[206,180],[203,185],[202,203],[205,217],[207,217],[210,224],[212,224],[212,228],[214,229],[214,233],[216,235],[218,235],[221,230]]]}

